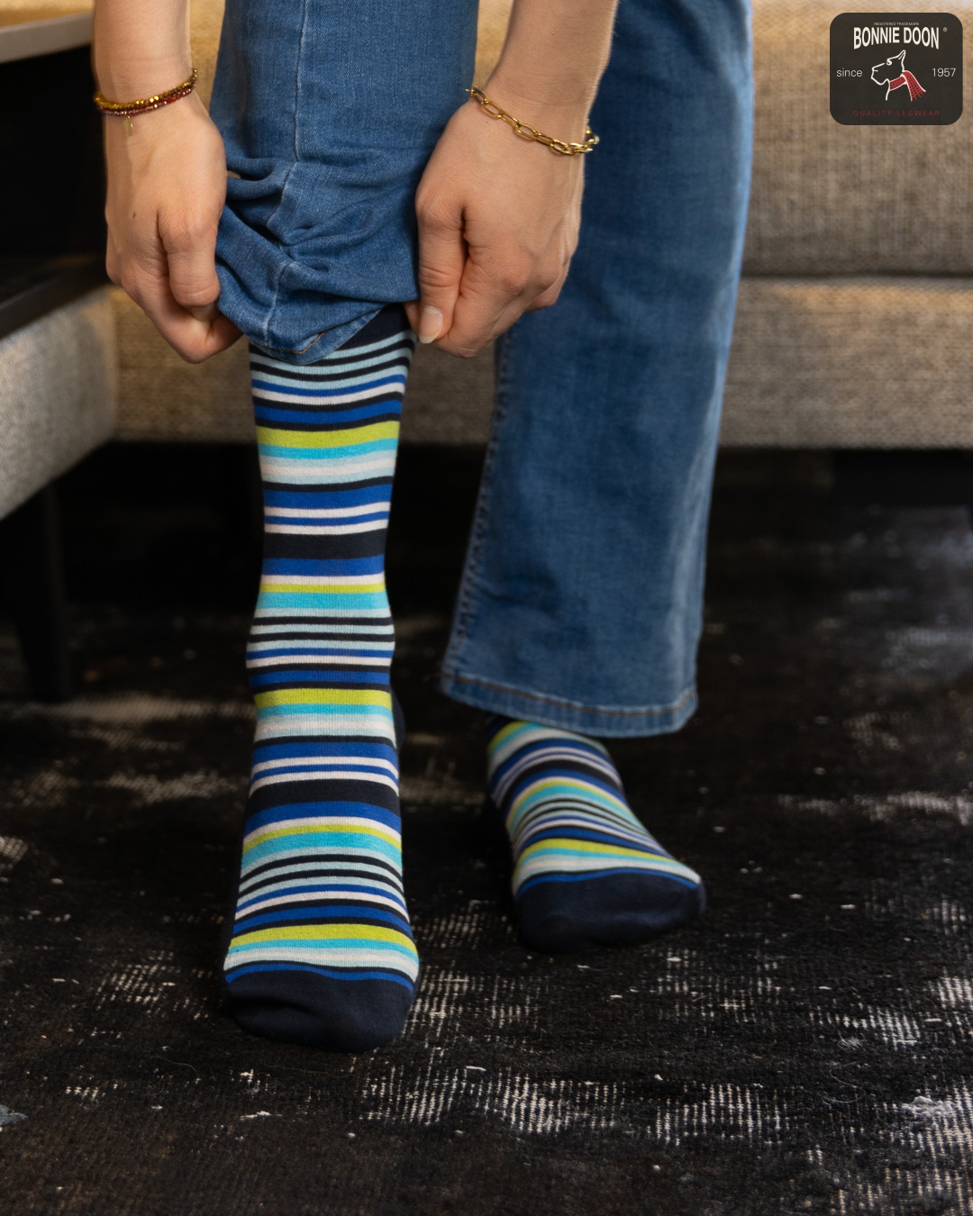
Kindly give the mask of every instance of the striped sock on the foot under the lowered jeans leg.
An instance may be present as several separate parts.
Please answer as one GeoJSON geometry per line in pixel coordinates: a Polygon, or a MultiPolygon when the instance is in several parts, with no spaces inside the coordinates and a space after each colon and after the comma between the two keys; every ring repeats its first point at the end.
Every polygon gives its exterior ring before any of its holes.
{"type": "Polygon", "coordinates": [[[535,950],[645,941],[705,907],[699,876],[629,810],[601,743],[499,717],[488,771],[513,848],[521,933],[535,950]]]}

